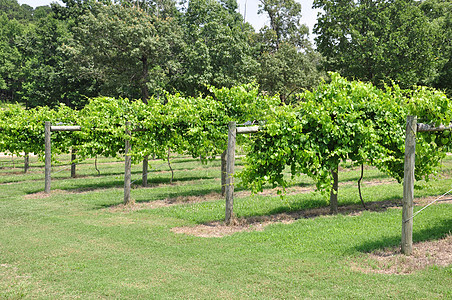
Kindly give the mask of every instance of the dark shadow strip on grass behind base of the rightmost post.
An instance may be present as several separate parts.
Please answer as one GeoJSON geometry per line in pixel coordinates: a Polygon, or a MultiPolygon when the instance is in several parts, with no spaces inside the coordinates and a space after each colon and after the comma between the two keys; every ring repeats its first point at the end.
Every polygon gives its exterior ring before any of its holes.
{"type": "MultiPolygon", "coordinates": [[[[416,225],[414,225],[413,243],[428,240],[438,240],[444,238],[451,233],[451,230],[452,230],[452,218],[443,220],[441,221],[440,224],[436,226],[422,230],[416,230],[416,225]]],[[[355,247],[355,249],[359,252],[369,253],[375,250],[382,250],[388,247],[399,247],[402,239],[401,235],[402,233],[400,233],[400,235],[385,237],[378,241],[365,242],[355,247]]]]}

